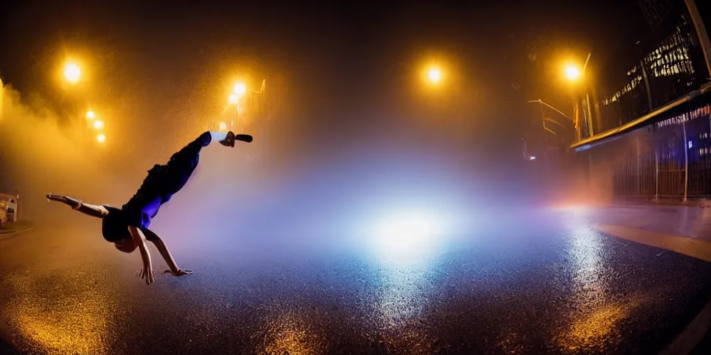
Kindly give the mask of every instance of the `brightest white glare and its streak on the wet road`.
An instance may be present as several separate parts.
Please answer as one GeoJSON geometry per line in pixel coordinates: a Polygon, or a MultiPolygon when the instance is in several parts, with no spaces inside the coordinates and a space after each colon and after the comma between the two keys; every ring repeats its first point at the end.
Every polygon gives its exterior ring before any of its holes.
{"type": "Polygon", "coordinates": [[[390,214],[375,225],[371,247],[380,277],[375,314],[387,349],[432,352],[432,335],[421,321],[432,287],[432,264],[444,247],[444,221],[417,211],[390,214]]]}

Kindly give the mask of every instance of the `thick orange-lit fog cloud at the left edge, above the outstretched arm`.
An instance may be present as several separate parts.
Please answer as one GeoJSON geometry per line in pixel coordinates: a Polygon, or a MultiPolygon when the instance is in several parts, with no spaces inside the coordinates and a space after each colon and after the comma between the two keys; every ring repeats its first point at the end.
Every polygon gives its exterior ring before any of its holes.
{"type": "MultiPolygon", "coordinates": [[[[28,107],[10,87],[3,87],[0,116],[3,187],[20,195],[21,219],[43,222],[60,217],[48,192],[87,202],[116,200],[128,187],[108,175],[98,151],[87,150],[61,129],[58,117],[43,107],[28,107]]],[[[100,203],[100,202],[98,202],[100,203]]]]}

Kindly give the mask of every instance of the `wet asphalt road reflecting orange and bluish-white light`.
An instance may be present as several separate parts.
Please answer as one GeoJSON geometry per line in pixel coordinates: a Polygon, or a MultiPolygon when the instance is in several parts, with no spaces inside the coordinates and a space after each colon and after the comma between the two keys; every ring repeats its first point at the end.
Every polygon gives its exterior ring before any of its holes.
{"type": "Polygon", "coordinates": [[[136,254],[72,222],[0,240],[0,335],[25,353],[654,354],[711,299],[710,263],[570,215],[491,219],[407,254],[164,235],[195,273],[150,287],[136,254]]]}

